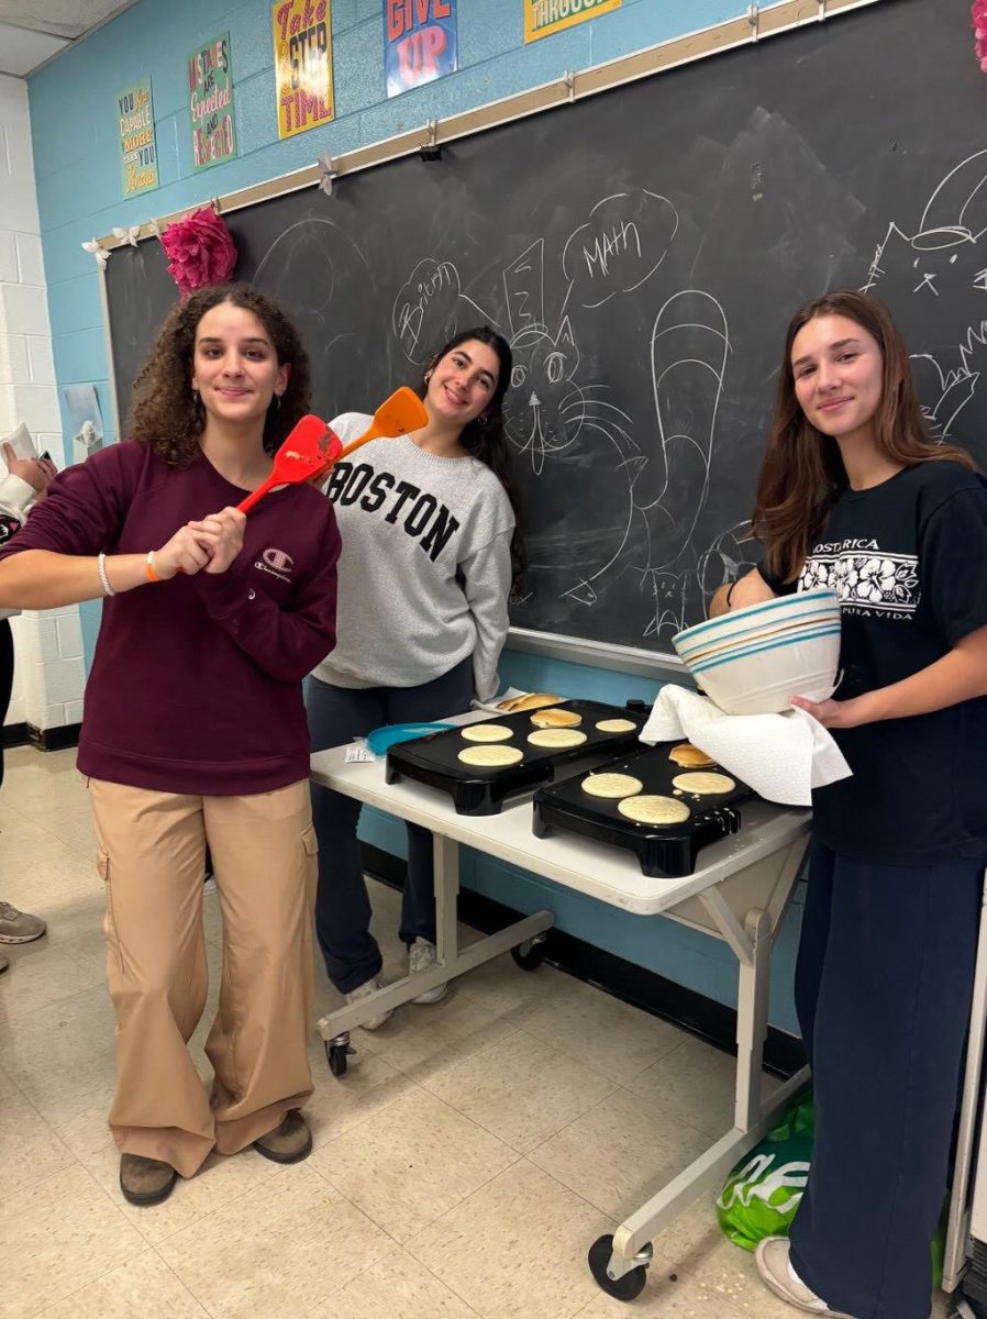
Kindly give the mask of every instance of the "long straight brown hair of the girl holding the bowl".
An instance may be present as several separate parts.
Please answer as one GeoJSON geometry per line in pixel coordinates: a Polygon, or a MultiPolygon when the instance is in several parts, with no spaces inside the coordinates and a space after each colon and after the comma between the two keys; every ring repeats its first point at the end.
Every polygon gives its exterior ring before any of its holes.
{"type": "Polygon", "coordinates": [[[887,307],[851,289],[825,293],[809,302],[792,318],[785,336],[775,418],[751,518],[769,571],[788,582],[801,571],[830,508],[847,488],[839,446],[809,422],[796,397],[792,346],[802,326],[815,317],[846,317],[856,322],[881,351],[881,393],[874,429],[883,458],[901,467],[934,459],[976,466],[965,450],[932,439],[914,392],[908,348],[887,307]]]}

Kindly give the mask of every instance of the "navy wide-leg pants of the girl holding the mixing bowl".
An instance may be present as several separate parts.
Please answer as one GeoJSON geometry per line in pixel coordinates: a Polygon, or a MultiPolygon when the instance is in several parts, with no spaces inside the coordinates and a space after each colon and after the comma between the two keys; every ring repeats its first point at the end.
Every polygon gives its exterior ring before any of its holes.
{"type": "Polygon", "coordinates": [[[796,1004],[815,1144],[792,1265],[854,1319],[929,1314],[986,863],[813,848],[796,1004]]]}

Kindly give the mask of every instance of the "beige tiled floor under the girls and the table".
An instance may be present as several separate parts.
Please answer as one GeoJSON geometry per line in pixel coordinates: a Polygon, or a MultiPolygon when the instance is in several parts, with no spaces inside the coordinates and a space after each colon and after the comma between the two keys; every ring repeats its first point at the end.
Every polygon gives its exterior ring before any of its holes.
{"type": "MultiPolygon", "coordinates": [[[[7,764],[0,897],[50,933],[5,950],[0,979],[0,1316],[792,1319],[709,1202],[658,1240],[633,1306],[596,1287],[589,1245],[730,1125],[731,1063],[509,958],[356,1031],[344,1080],[313,1037],[307,1162],[212,1157],[165,1204],[128,1206],[106,1129],[112,1013],[84,789],[73,752],[7,764]]],[[[398,973],[396,894],[373,885],[373,906],[398,973]]],[[[206,929],[215,984],[215,897],[206,929]]],[[[321,977],[317,1008],[336,1001],[321,977]]]]}

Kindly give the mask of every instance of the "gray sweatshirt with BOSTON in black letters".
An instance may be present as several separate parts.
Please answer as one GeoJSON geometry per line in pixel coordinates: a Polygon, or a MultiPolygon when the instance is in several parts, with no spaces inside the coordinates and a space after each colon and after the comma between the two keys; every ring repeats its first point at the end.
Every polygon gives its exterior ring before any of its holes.
{"type": "MultiPolygon", "coordinates": [[[[369,422],[331,425],[347,445],[369,422]]],[[[472,654],[476,695],[497,691],[511,590],[511,501],[475,458],[439,458],[400,435],[333,468],[343,539],[336,645],[315,677],[338,687],[417,687],[472,654]]]]}

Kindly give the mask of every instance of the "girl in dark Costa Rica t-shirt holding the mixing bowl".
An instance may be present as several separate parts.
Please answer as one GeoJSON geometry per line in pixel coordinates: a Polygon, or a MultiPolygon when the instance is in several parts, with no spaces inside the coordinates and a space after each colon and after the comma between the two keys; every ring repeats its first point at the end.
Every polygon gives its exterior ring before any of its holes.
{"type": "Polygon", "coordinates": [[[854,772],[813,793],[796,1005],[815,1142],[790,1241],[757,1266],[805,1311],[925,1319],[987,864],[987,481],[929,435],[872,298],[792,321],[753,532],[761,567],[713,612],[839,595],[839,686],[793,704],[854,772]]]}

